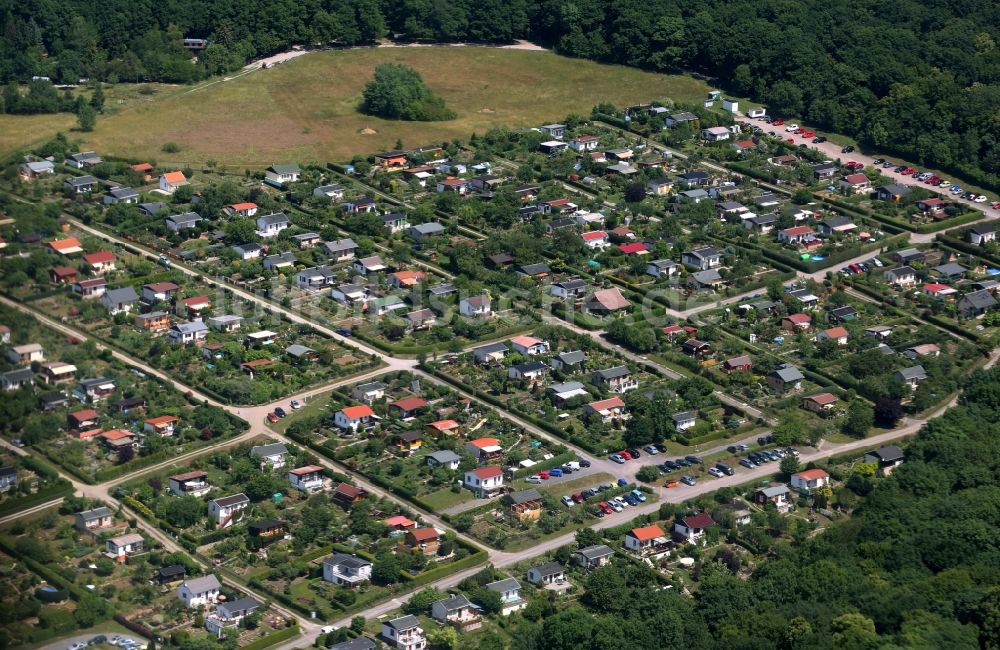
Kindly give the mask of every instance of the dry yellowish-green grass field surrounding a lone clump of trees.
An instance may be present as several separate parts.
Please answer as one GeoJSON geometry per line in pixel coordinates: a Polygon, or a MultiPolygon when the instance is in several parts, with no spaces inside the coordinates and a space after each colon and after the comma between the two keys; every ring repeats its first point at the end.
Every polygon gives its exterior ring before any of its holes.
{"type": "MultiPolygon", "coordinates": [[[[707,90],[688,77],[541,51],[357,49],[307,54],[268,70],[195,88],[160,87],[152,97],[133,95],[132,101],[111,103],[114,113],[102,116],[94,132],[75,132],[72,137],[104,155],[160,164],[215,160],[226,167],[261,167],[282,161],[344,160],[393,148],[397,139],[404,146],[418,146],[467,138],[497,125],[537,126],[571,112],[589,114],[600,102],[621,106],[666,98],[700,99],[707,90]],[[404,63],[420,72],[458,119],[393,122],[359,114],[361,91],[375,66],[384,62],[404,63]],[[362,133],[366,129],[375,133],[362,133]],[[162,153],[167,142],[180,145],[181,152],[162,153]]],[[[22,131],[22,141],[12,146],[44,140],[57,128],[45,122],[41,127],[49,131],[25,127],[32,132],[22,131]]]]}

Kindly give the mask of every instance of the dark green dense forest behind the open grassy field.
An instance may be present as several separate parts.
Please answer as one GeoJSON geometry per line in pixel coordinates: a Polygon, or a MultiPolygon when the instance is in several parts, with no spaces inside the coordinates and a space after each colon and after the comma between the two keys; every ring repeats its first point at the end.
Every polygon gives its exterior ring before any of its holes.
{"type": "Polygon", "coordinates": [[[0,15],[3,82],[183,83],[292,44],[528,38],[711,75],[773,113],[1000,187],[992,0],[2,0],[0,15]],[[194,65],[185,36],[210,41],[194,65]]]}

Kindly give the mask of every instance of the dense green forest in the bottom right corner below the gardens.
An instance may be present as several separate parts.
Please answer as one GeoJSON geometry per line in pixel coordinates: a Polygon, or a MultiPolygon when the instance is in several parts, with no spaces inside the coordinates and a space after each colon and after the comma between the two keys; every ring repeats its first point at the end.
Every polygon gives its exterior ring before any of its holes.
{"type": "MultiPolygon", "coordinates": [[[[891,477],[851,476],[836,496],[859,503],[849,519],[778,542],[749,579],[720,551],[704,558],[688,598],[619,561],[590,574],[578,606],[533,603],[511,648],[998,648],[998,409],[1000,370],[977,373],[891,477]]],[[[578,541],[601,540],[584,530],[578,541]]]]}

